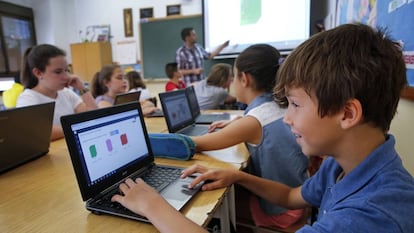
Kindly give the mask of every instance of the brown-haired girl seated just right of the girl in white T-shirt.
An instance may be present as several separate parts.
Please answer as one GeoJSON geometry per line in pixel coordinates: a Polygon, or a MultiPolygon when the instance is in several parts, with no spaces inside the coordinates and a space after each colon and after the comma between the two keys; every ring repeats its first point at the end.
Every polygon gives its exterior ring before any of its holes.
{"type": "MultiPolygon", "coordinates": [[[[115,97],[127,91],[128,84],[119,65],[106,65],[95,74],[91,82],[91,92],[99,108],[114,105],[115,97]]],[[[140,101],[142,112],[148,115],[157,108],[151,101],[140,101]]]]}

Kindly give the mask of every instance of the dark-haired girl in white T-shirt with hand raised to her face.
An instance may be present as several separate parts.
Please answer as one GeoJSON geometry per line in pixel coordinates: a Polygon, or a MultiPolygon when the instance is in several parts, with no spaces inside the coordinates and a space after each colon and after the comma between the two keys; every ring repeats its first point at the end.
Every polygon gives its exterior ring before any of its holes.
{"type": "Polygon", "coordinates": [[[60,117],[95,109],[91,93],[81,79],[68,73],[65,51],[49,44],[28,48],[23,56],[21,82],[25,87],[16,106],[56,102],[51,140],[63,138],[60,117]],[[79,91],[80,96],[69,87],[79,91]]]}

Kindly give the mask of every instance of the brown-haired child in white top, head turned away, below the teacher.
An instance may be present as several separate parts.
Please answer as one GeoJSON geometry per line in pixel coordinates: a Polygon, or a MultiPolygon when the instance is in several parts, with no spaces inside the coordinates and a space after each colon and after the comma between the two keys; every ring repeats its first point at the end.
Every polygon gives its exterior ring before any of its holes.
{"type": "Polygon", "coordinates": [[[228,92],[232,80],[231,65],[225,63],[213,65],[207,79],[194,84],[200,109],[219,109],[224,104],[236,102],[236,97],[228,92]]]}

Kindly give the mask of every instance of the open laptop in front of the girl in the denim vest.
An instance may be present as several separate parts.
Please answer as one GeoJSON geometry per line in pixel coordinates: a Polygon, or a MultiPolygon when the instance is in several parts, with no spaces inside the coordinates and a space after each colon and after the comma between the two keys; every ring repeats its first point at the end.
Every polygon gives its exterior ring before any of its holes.
{"type": "Polygon", "coordinates": [[[185,89],[158,94],[170,133],[199,136],[208,133],[208,125],[196,124],[185,89]]]}

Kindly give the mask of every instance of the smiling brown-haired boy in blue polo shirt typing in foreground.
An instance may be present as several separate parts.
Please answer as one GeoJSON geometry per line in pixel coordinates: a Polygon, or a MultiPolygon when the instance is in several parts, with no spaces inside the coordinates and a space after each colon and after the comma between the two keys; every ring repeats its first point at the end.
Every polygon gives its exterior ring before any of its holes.
{"type": "MultiPolygon", "coordinates": [[[[388,134],[406,84],[402,52],[383,32],[361,24],[320,32],[289,55],[275,88],[303,152],[329,155],[319,171],[297,188],[198,165],[182,177],[199,172],[192,186],[210,180],[203,190],[238,183],[288,208],[318,207],[317,221],[298,232],[412,232],[414,179],[388,134]]],[[[128,179],[120,189],[113,201],[161,232],[206,232],[142,180],[128,179]]]]}

